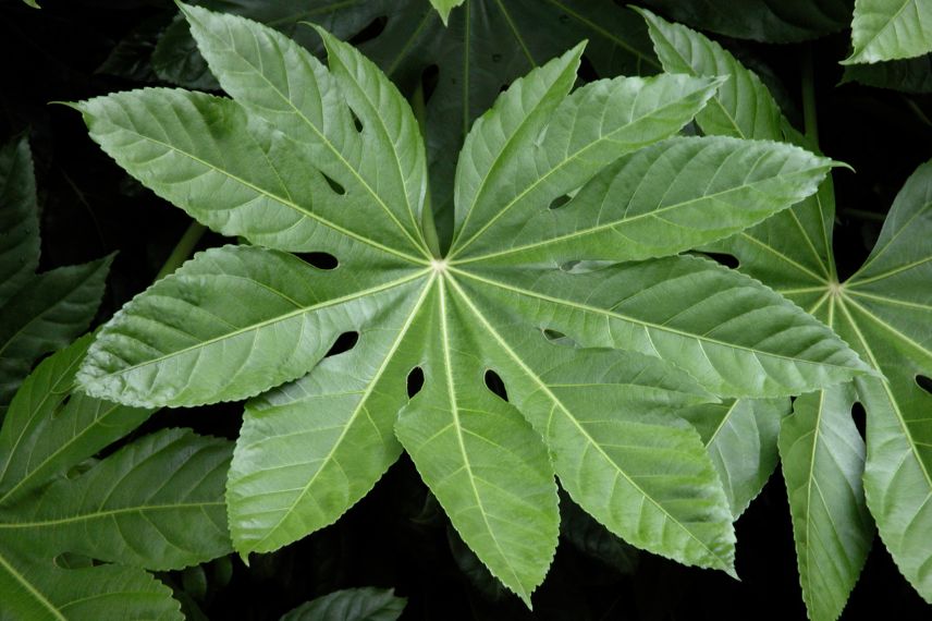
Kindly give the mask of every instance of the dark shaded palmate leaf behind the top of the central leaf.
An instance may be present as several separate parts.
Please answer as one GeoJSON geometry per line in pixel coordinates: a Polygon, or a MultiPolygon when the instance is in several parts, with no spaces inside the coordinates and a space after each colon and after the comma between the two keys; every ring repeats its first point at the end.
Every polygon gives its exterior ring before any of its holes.
{"type": "MultiPolygon", "coordinates": [[[[427,127],[431,205],[443,240],[452,233],[452,185],[456,160],[473,121],[486,111],[503,85],[588,39],[587,58],[603,76],[655,73],[643,24],[612,0],[204,0],[208,9],[269,24],[319,51],[306,22],[340,38],[372,24],[384,27],[363,51],[406,92],[421,89],[427,127]],[[449,20],[436,5],[461,4],[449,20]],[[446,23],[444,24],[444,20],[446,23]],[[436,73],[434,73],[436,72],[436,73]],[[436,76],[436,80],[433,77],[436,76]]],[[[152,64],[163,80],[188,88],[216,88],[184,21],[160,38],[152,64]]],[[[225,86],[224,86],[225,87],[225,86]]]]}

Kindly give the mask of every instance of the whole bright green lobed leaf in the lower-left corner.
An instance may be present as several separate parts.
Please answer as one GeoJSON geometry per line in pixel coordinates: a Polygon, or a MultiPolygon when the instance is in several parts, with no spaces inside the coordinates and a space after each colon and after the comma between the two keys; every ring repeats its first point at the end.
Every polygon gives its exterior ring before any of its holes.
{"type": "Polygon", "coordinates": [[[42,362],[0,429],[0,618],[180,619],[145,570],[230,550],[230,446],[173,429],[87,462],[151,413],[71,392],[90,342],[42,362]]]}

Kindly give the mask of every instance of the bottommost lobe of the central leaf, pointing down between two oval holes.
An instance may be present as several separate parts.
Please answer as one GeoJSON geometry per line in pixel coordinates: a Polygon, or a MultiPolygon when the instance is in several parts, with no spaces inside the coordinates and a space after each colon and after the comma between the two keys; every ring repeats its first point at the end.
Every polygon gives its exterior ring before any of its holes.
{"type": "Polygon", "coordinates": [[[434,291],[419,328],[425,386],[395,431],[463,540],[530,606],[559,534],[547,448],[515,407],[481,387],[481,334],[453,309],[445,283],[434,291]]]}

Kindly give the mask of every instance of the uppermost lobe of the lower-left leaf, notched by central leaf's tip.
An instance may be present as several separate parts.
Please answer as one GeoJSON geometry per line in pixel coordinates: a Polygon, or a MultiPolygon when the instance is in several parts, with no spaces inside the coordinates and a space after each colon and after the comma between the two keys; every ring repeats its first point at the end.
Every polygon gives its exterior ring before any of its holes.
{"type": "Polygon", "coordinates": [[[151,414],[71,392],[91,339],[83,337],[42,362],[13,399],[0,429],[0,504],[64,477],[151,414]]]}

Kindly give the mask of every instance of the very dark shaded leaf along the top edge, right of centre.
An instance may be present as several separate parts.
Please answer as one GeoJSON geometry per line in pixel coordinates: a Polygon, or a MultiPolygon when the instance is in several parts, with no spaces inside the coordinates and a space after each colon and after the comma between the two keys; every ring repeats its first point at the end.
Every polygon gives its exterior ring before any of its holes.
{"type": "Polygon", "coordinates": [[[836,33],[851,21],[853,0],[646,0],[695,28],[739,39],[786,44],[836,33]]]}

